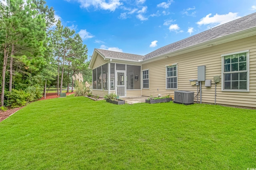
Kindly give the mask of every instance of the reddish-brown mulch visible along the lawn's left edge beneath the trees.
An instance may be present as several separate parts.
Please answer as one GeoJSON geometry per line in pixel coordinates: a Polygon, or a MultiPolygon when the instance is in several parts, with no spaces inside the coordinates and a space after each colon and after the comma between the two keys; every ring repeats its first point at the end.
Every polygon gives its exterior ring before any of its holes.
{"type": "MultiPolygon", "coordinates": [[[[67,96],[69,96],[70,94],[74,94],[74,92],[69,92],[66,93],[67,96]]],[[[59,96],[57,96],[57,93],[48,93],[46,94],[46,98],[44,99],[44,97],[42,97],[39,100],[46,100],[46,99],[53,99],[53,98],[58,98],[59,96]]],[[[16,111],[18,111],[19,109],[21,109],[22,107],[16,107],[14,109],[8,109],[7,111],[2,111],[0,110],[0,122],[3,121],[4,119],[6,119],[7,117],[9,117],[10,115],[12,115],[13,113],[15,113],[16,111]]]]}

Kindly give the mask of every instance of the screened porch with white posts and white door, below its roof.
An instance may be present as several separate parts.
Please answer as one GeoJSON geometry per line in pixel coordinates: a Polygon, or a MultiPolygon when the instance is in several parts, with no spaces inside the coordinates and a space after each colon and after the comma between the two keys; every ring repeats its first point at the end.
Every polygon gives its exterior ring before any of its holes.
{"type": "MultiPolygon", "coordinates": [[[[93,94],[114,92],[120,97],[141,96],[141,66],[106,63],[92,70],[93,94]]],[[[102,95],[101,95],[102,96],[102,95]]]]}

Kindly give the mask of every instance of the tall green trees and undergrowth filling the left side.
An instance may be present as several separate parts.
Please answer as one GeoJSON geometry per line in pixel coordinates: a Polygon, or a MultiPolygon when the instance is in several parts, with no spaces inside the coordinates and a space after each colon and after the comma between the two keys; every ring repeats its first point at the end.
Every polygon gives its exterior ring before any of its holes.
{"type": "Polygon", "coordinates": [[[87,47],[80,35],[56,21],[54,8],[46,1],[0,2],[2,107],[36,100],[42,97],[42,88],[44,95],[51,86],[57,88],[58,95],[63,86],[69,92],[69,86],[74,87],[71,77],[78,72],[90,82],[87,59],[87,47]]]}

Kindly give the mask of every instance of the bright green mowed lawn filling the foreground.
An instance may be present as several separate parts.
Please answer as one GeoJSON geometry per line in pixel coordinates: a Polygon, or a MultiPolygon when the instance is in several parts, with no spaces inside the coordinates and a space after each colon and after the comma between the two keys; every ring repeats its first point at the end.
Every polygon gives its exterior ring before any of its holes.
{"type": "Polygon", "coordinates": [[[256,168],[252,109],[68,96],[0,123],[0,169],[247,168],[256,168]]]}

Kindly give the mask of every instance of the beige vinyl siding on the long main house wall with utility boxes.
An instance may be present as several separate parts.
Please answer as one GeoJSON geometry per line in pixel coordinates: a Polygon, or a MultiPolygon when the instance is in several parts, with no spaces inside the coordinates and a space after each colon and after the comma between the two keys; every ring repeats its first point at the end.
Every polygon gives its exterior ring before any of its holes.
{"type": "MultiPolygon", "coordinates": [[[[250,92],[222,92],[222,83],[217,84],[217,104],[256,107],[256,36],[224,43],[168,57],[151,63],[142,63],[142,70],[149,69],[149,88],[142,89],[142,96],[157,96],[158,94],[174,95],[174,90],[166,90],[166,65],[177,63],[178,90],[194,91],[197,86],[190,85],[190,79],[197,79],[197,66],[206,66],[206,80],[212,80],[212,87],[205,87],[202,82],[202,102],[214,103],[215,84],[213,76],[221,75],[223,54],[250,50],[250,92]],[[159,89],[159,90],[157,90],[159,89]]],[[[222,78],[222,77],[221,77],[222,78]]],[[[196,98],[194,98],[196,101],[196,98]]]]}

